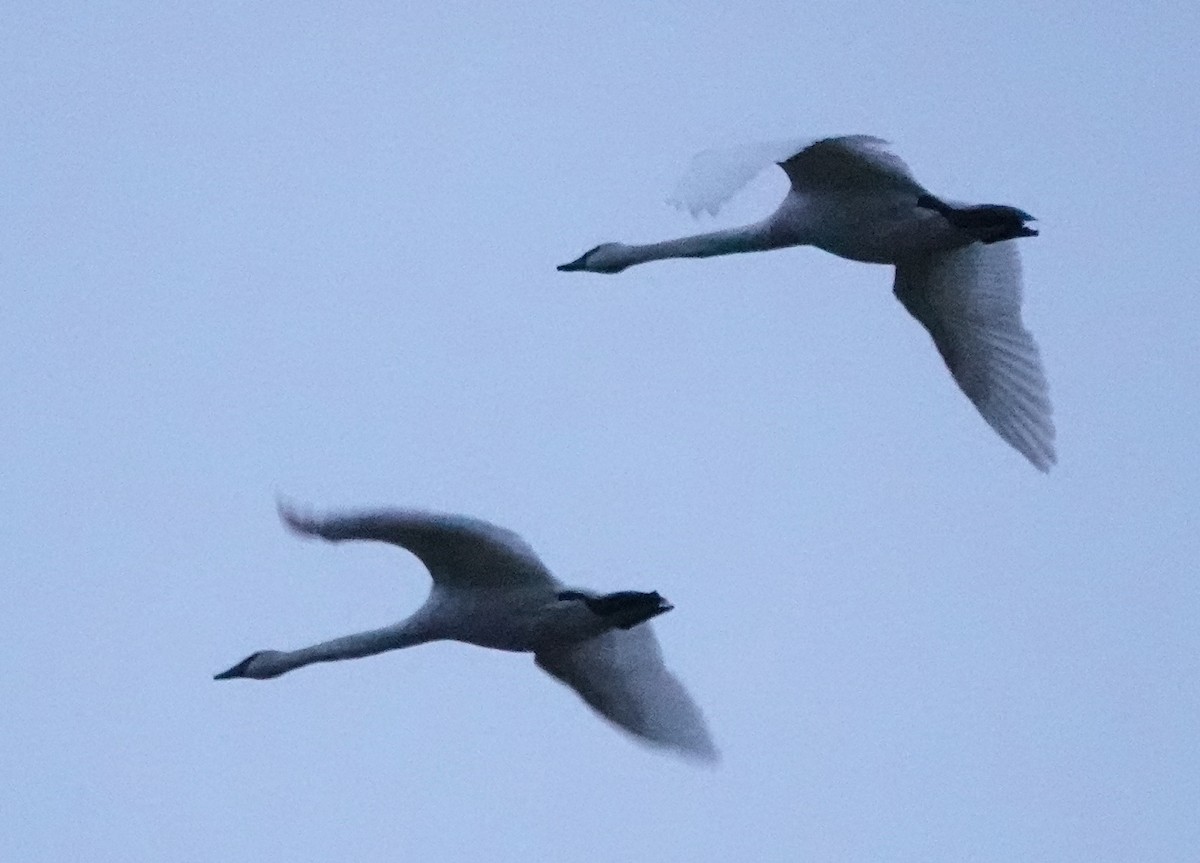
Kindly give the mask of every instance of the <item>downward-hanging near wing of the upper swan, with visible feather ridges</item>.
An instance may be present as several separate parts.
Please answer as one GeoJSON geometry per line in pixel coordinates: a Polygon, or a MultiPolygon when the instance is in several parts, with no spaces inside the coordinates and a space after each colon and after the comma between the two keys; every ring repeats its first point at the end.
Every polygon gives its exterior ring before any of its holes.
{"type": "Polygon", "coordinates": [[[959,386],[1039,471],[1055,463],[1049,388],[1021,322],[1014,241],[970,246],[896,266],[895,295],[934,337],[959,386]]]}

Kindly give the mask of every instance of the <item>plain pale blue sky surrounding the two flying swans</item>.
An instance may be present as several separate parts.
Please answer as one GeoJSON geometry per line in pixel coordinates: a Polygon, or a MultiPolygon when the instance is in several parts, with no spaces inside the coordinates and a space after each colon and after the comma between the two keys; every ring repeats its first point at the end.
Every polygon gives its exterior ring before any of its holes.
{"type": "MultiPolygon", "coordinates": [[[[0,858],[1200,858],[1194,4],[223,2],[0,12],[0,858]],[[1039,217],[1058,426],[1006,447],[890,294],[696,230],[696,150],[863,132],[1039,217]],[[468,513],[658,589],[716,769],[392,622],[468,513]]],[[[764,176],[707,224],[758,218],[764,176]]]]}

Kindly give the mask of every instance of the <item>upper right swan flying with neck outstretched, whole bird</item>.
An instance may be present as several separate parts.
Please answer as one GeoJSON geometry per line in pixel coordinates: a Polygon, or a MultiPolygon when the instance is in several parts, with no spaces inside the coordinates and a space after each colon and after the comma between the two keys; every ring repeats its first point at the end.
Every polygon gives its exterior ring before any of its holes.
{"type": "Polygon", "coordinates": [[[706,258],[810,245],[851,260],[895,265],[894,292],[929,330],[959,386],[988,424],[1040,471],[1055,463],[1045,374],[1021,322],[1014,242],[1036,236],[1013,206],[949,204],[930,194],[886,142],[856,134],[710,150],[670,202],[715,214],[763,168],[791,191],[754,224],[649,245],[605,242],[559,270],[620,272],[662,258],[706,258]]]}

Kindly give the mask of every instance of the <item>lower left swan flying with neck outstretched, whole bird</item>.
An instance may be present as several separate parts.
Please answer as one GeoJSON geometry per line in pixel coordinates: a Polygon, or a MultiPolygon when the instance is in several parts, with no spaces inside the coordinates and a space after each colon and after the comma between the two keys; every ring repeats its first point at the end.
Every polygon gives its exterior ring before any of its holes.
{"type": "Polygon", "coordinates": [[[464,641],[530,652],[539,667],[616,726],[647,743],[715,760],[700,708],[662,664],[646,623],[671,611],[658,593],[565,589],[520,537],[478,519],[415,510],[322,519],[282,503],[280,516],[305,537],[407,549],[428,569],[433,588],[407,621],[299,651],[259,651],[215,679],[263,681],[312,663],[464,641]]]}

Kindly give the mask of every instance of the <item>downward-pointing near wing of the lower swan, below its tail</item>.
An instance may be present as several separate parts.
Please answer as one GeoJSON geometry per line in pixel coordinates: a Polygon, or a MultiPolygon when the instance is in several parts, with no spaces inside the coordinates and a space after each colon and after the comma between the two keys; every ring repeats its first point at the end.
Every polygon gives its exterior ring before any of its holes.
{"type": "Polygon", "coordinates": [[[539,651],[535,659],[538,667],[578,693],[617,727],[658,747],[716,760],[704,718],[662,664],[662,651],[649,624],[539,651]]]}

